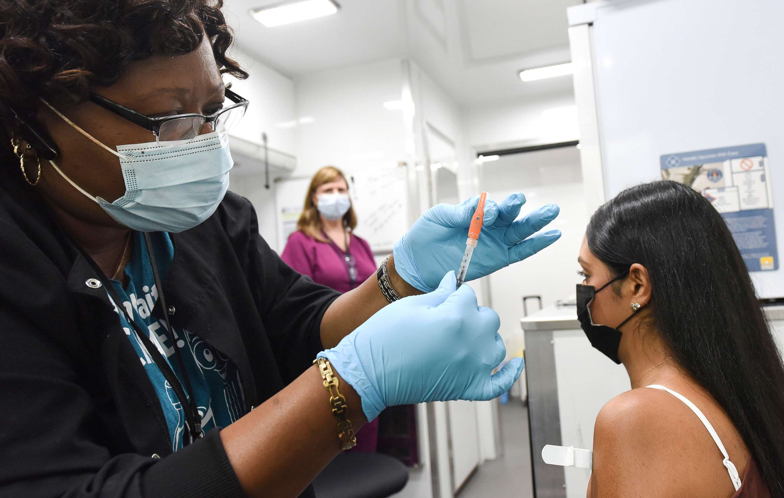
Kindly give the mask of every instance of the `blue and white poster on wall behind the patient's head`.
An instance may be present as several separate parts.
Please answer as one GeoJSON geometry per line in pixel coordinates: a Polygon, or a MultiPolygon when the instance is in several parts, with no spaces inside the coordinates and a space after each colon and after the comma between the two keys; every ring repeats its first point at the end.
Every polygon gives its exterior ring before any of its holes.
{"type": "Polygon", "coordinates": [[[661,163],[664,180],[694,188],[724,216],[749,271],[779,269],[765,144],[665,154],[661,163]]]}

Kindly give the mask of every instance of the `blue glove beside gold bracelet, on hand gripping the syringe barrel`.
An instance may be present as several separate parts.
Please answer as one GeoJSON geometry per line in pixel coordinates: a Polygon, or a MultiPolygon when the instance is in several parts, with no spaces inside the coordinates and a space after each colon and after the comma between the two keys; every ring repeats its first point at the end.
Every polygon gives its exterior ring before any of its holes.
{"type": "Polygon", "coordinates": [[[434,292],[395,301],[318,354],[360,395],[368,421],[387,406],[497,398],[520,376],[523,358],[492,375],[506,356],[498,314],[456,285],[450,271],[434,292]]]}

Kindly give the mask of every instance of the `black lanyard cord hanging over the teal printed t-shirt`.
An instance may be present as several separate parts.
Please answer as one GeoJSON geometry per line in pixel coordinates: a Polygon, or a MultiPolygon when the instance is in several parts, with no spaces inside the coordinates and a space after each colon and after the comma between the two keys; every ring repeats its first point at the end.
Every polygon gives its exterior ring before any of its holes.
{"type": "MultiPolygon", "coordinates": [[[[183,407],[183,413],[185,414],[185,426],[188,433],[188,438],[183,438],[183,446],[190,444],[194,441],[195,438],[201,438],[204,434],[201,433],[201,417],[198,416],[198,410],[196,409],[195,400],[194,400],[194,392],[191,389],[191,381],[188,378],[188,374],[185,370],[185,365],[183,364],[182,355],[180,354],[180,348],[177,347],[176,340],[174,340],[174,332],[172,330],[172,326],[169,323],[169,310],[165,306],[165,298],[163,296],[163,289],[160,283],[160,277],[158,275],[158,266],[155,264],[155,256],[153,255],[152,251],[152,244],[150,241],[150,235],[145,233],[144,234],[144,243],[147,245],[147,253],[150,255],[150,263],[153,269],[153,275],[155,278],[155,286],[158,289],[158,299],[161,300],[162,310],[166,322],[166,329],[167,334],[171,334],[169,336],[169,340],[172,340],[172,344],[174,347],[174,351],[176,351],[177,359],[180,363],[180,370],[182,371],[183,378],[185,379],[185,384],[187,386],[188,392],[191,393],[191,402],[188,402],[187,394],[183,389],[182,383],[177,378],[176,374],[172,370],[172,367],[169,366],[169,363],[166,362],[165,358],[160,351],[158,351],[158,347],[156,347],[148,333],[145,333],[141,326],[136,323],[133,319],[132,314],[129,314],[125,311],[125,308],[122,306],[122,299],[118,296],[118,293],[114,290],[114,286],[111,285],[111,282],[108,281],[105,274],[103,274],[103,270],[100,269],[98,264],[93,260],[89,254],[85,253],[85,251],[81,248],[79,250],[82,252],[82,256],[85,257],[88,264],[93,267],[93,271],[96,272],[98,279],[103,284],[103,287],[107,290],[107,293],[114,301],[114,306],[117,307],[118,313],[122,313],[125,316],[125,320],[133,327],[136,331],[136,336],[142,341],[145,349],[150,354],[151,358],[155,362],[155,365],[158,366],[158,369],[161,371],[162,375],[164,376],[165,380],[169,383],[169,386],[172,387],[174,394],[176,394],[177,399],[180,401],[180,405],[183,407]]],[[[78,247],[78,246],[77,246],[78,247]]],[[[150,310],[152,313],[152,310],[150,310]]],[[[185,343],[187,344],[187,337],[183,337],[185,343]]]]}

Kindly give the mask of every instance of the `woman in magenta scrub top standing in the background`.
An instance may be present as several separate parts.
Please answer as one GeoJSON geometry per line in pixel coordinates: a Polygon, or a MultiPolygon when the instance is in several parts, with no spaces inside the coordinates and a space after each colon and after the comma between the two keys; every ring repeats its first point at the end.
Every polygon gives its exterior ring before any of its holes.
{"type": "MultiPolygon", "coordinates": [[[[297,231],[281,257],[314,282],[348,292],[376,273],[370,245],[352,233],[356,226],[346,177],[334,166],[325,166],[310,180],[297,231]]],[[[378,419],[365,425],[353,451],[375,452],[378,432],[378,419]]]]}

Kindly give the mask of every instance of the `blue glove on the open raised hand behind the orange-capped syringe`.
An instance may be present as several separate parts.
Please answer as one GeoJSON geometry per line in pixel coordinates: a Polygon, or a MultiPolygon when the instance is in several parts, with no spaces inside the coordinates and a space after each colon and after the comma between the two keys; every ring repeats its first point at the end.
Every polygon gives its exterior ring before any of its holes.
{"type": "MultiPolygon", "coordinates": [[[[438,204],[420,216],[394,246],[397,274],[416,289],[429,293],[443,274],[457,270],[478,202],[479,196],[475,196],[459,205],[438,204]]],[[[545,205],[514,221],[524,203],[523,194],[507,195],[500,206],[489,198],[485,202],[482,232],[466,282],[524,260],[561,237],[557,230],[539,232],[558,216],[557,205],[545,205]]]]}

